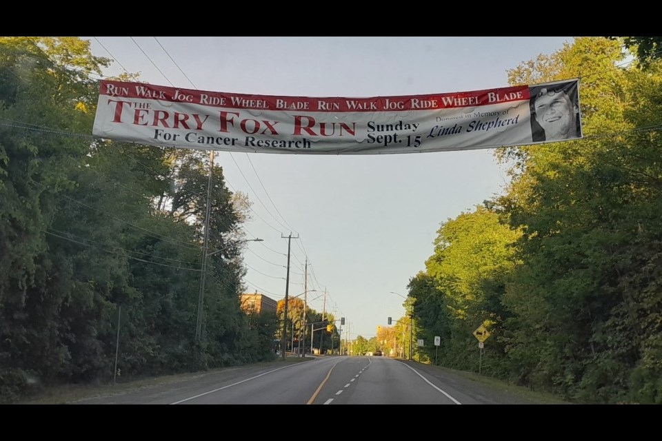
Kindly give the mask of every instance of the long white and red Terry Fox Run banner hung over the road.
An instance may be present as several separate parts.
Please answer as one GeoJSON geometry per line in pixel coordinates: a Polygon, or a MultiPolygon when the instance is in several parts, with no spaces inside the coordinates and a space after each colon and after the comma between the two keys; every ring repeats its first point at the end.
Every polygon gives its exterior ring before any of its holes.
{"type": "Polygon", "coordinates": [[[92,135],[293,154],[395,154],[580,139],[579,81],[414,96],[246,95],[101,81],[92,135]]]}

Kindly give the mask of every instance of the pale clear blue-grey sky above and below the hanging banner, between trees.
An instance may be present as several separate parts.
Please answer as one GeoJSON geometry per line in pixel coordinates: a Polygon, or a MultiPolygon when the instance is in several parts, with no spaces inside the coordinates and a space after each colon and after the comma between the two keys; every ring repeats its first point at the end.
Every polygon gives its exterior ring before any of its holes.
{"type": "MultiPolygon", "coordinates": [[[[81,37],[92,53],[141,81],[180,88],[286,96],[392,96],[508,86],[507,71],[572,37],[81,37]]],[[[292,232],[290,296],[346,318],[371,338],[404,313],[442,222],[501,194],[494,150],[314,155],[217,152],[230,189],[252,201],[246,291],[279,300],[292,232]],[[326,291],[326,295],[324,295],[326,291]]],[[[339,325],[339,324],[337,324],[339,325]]]]}

